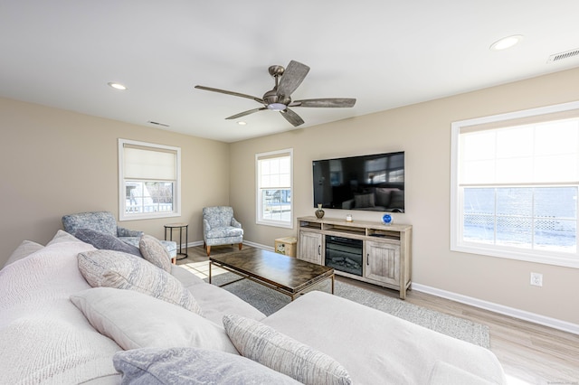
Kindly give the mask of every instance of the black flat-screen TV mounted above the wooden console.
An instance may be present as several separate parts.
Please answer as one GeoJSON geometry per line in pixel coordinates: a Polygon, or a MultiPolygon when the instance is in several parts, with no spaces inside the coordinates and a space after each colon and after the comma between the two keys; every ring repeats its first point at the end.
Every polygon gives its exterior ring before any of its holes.
{"type": "Polygon", "coordinates": [[[312,162],[314,207],[404,212],[404,153],[312,162]]]}

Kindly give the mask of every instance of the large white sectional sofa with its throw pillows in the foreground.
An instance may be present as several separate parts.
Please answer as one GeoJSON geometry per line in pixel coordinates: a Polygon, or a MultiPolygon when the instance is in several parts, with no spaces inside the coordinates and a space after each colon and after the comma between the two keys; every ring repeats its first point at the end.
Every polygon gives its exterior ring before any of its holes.
{"type": "Polygon", "coordinates": [[[265,317],[184,268],[107,251],[63,231],[14,251],[1,383],[505,383],[489,350],[338,296],[265,317]]]}

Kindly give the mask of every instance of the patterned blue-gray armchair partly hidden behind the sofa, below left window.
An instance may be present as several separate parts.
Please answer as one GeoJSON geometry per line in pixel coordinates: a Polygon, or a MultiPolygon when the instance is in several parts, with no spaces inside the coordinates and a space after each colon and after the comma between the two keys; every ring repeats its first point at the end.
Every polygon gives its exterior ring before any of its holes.
{"type": "MultiPolygon", "coordinates": [[[[128,230],[117,225],[117,220],[109,211],[79,212],[77,214],[64,215],[62,217],[64,230],[74,235],[78,230],[90,229],[104,234],[117,237],[129,245],[138,248],[138,242],[143,235],[143,231],[128,230]]],[[[176,258],[177,243],[171,240],[161,240],[166,247],[171,258],[176,258]]]]}

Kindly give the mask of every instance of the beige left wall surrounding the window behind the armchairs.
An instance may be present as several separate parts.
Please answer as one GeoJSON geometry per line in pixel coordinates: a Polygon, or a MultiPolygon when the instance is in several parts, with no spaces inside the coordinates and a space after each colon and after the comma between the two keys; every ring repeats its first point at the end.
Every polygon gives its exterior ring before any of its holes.
{"type": "Polygon", "coordinates": [[[0,117],[0,266],[23,239],[52,239],[64,214],[119,218],[119,137],[182,155],[182,216],[122,226],[163,239],[165,223],[185,221],[189,241],[200,241],[202,208],[229,203],[228,144],[9,99],[0,99],[0,117]]]}

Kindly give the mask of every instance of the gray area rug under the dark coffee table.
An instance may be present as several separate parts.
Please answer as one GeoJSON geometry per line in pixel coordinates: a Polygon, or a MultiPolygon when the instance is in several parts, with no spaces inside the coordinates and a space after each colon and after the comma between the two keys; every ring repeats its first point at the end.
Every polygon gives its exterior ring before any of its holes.
{"type": "MultiPolygon", "coordinates": [[[[214,285],[223,285],[238,279],[233,273],[225,273],[212,278],[214,285]]],[[[205,279],[206,281],[208,279],[205,279]]],[[[268,287],[261,286],[249,279],[223,286],[223,289],[239,296],[245,302],[258,308],[261,313],[271,315],[289,304],[289,296],[282,295],[268,287]]],[[[330,281],[326,280],[314,286],[311,290],[331,292],[330,281]]],[[[444,315],[422,306],[409,304],[401,299],[381,295],[364,287],[354,286],[344,281],[336,280],[334,294],[347,298],[358,304],[373,307],[385,313],[395,315],[413,324],[419,324],[439,333],[450,335],[468,343],[489,348],[489,327],[473,323],[469,320],[452,315],[444,315]]]]}

